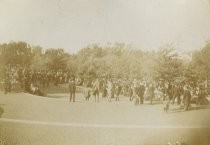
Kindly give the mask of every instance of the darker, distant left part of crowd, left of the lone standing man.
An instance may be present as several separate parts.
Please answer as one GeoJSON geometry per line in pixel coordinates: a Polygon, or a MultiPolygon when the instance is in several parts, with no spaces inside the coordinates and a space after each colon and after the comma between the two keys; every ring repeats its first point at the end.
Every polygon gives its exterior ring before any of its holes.
{"type": "Polygon", "coordinates": [[[57,86],[68,83],[69,71],[34,70],[23,66],[7,66],[1,68],[1,88],[5,94],[11,90],[22,90],[24,92],[43,95],[40,88],[47,88],[50,84],[57,86]]]}

